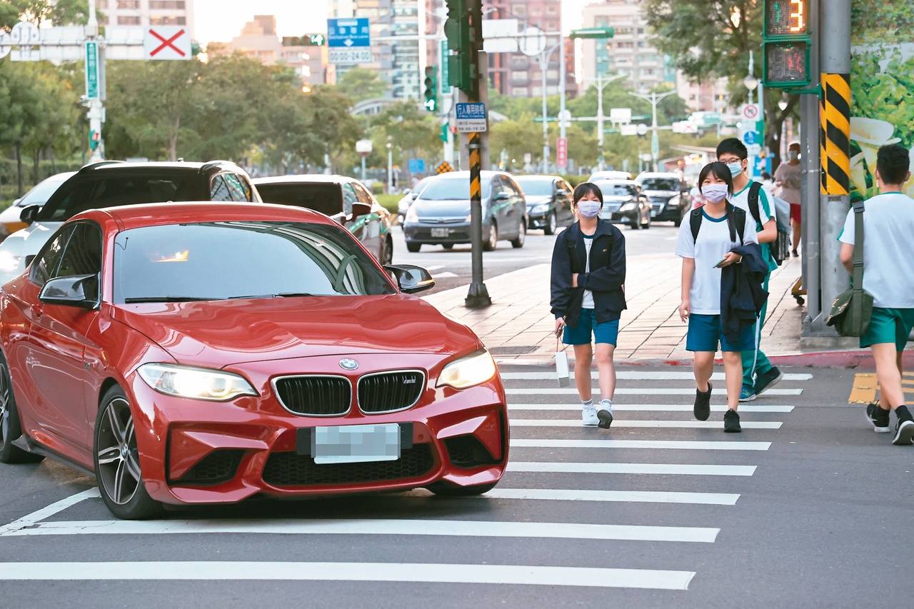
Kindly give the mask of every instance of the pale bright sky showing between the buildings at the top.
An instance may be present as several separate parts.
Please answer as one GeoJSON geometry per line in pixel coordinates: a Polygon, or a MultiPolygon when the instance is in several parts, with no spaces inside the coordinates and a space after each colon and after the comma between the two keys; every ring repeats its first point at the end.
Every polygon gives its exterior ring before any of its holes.
{"type": "MultiPolygon", "coordinates": [[[[594,0],[562,0],[562,29],[581,26],[581,9],[594,0]]],[[[229,42],[257,15],[276,16],[279,36],[302,36],[327,31],[325,0],[193,0],[197,40],[229,42]]]]}

